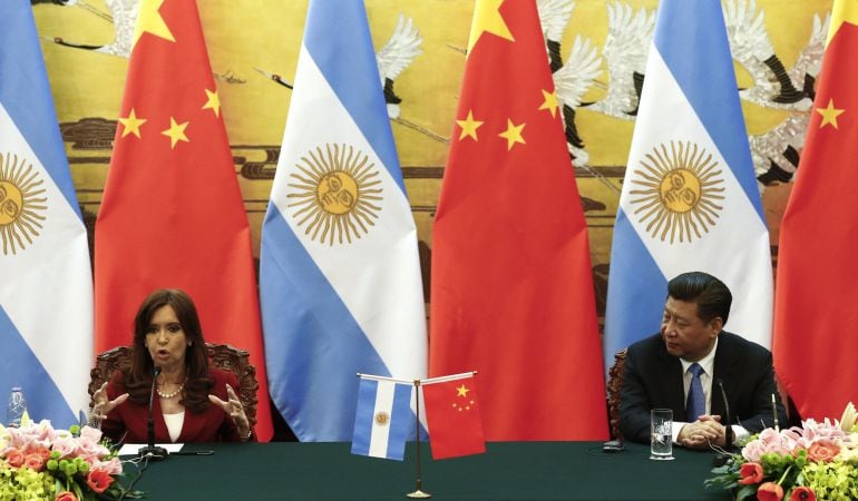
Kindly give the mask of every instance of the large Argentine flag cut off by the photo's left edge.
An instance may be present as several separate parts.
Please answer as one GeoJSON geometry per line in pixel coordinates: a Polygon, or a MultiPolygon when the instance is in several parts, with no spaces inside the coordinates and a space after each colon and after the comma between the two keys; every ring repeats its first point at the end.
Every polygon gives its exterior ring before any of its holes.
{"type": "Polygon", "coordinates": [[[21,386],[33,420],[71,425],[88,409],[92,275],[26,0],[0,1],[0,402],[21,386]]]}

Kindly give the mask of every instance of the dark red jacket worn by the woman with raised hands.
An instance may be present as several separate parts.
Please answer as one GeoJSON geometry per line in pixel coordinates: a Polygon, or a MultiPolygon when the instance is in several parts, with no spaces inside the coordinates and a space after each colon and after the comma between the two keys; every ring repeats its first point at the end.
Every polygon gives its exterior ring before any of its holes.
{"type": "MultiPolygon", "coordinates": [[[[211,393],[226,401],[226,384],[228,383],[236,392],[238,382],[232,372],[211,369],[209,375],[214,381],[211,393]]],[[[117,373],[110,377],[107,384],[107,397],[110,400],[125,393],[121,385],[121,374],[117,373]]],[[[164,422],[164,414],[160,411],[160,399],[155,395],[153,413],[155,415],[155,442],[169,443],[169,432],[164,422]]],[[[101,431],[114,443],[146,443],[148,441],[147,422],[149,410],[147,405],[139,405],[130,400],[118,405],[101,423],[101,431]]],[[[232,418],[215,404],[201,412],[195,413],[185,410],[185,420],[182,423],[182,433],[176,442],[238,442],[238,430],[232,418]]]]}

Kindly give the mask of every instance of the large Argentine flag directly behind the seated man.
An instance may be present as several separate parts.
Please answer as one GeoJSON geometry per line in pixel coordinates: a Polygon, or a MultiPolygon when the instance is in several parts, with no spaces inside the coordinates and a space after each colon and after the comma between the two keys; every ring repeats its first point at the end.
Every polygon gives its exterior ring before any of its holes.
{"type": "Polygon", "coordinates": [[[659,332],[667,281],[719,277],[725,330],[770,345],[769,232],[718,0],[663,0],[620,198],[605,317],[605,366],[659,332]]]}

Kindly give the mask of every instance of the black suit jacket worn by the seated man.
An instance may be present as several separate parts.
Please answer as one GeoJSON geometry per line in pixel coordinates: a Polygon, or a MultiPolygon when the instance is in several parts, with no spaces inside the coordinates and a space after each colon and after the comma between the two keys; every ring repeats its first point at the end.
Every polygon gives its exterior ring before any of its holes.
{"type": "MultiPolygon", "coordinates": [[[[727,415],[720,390],[724,385],[731,424],[739,423],[751,433],[773,426],[771,395],[774,394],[778,420],[787,424],[786,412],[774,384],[771,353],[735,334],[722,331],[712,374],[711,414],[727,415]]],[[[661,334],[628,346],[623,386],[620,391],[620,430],[635,442],[650,442],[650,411],[671,409],[673,419],[685,421],[682,363],[664,347],[661,334]]]]}

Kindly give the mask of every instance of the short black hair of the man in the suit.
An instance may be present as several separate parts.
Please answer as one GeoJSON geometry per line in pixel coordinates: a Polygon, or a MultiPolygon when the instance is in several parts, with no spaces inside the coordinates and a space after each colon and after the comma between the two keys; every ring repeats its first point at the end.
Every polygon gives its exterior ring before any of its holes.
{"type": "Polygon", "coordinates": [[[730,316],[733,295],[723,282],[703,272],[676,275],[667,283],[667,296],[698,304],[698,317],[706,323],[720,316],[723,324],[730,316]]]}

